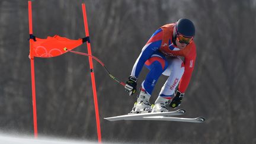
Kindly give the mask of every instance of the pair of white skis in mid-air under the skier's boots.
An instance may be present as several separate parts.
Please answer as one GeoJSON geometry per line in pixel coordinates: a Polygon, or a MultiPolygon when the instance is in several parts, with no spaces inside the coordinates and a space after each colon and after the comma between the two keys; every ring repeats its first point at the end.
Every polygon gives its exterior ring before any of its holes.
{"type": "Polygon", "coordinates": [[[182,121],[190,123],[203,123],[205,121],[204,117],[196,118],[183,118],[183,117],[172,117],[185,114],[185,110],[180,109],[176,111],[169,112],[158,112],[158,113],[134,113],[125,114],[116,117],[107,117],[105,120],[117,121],[117,120],[163,120],[163,121],[182,121]]]}

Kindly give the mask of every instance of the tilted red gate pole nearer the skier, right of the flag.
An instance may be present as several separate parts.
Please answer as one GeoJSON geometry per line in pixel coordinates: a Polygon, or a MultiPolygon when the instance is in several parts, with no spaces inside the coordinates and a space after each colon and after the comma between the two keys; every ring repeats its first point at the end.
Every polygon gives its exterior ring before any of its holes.
{"type": "MultiPolygon", "coordinates": [[[[82,4],[82,12],[84,16],[84,27],[85,27],[85,36],[89,37],[89,30],[88,30],[88,23],[87,23],[87,15],[85,4],[82,4]]],[[[87,49],[88,54],[91,54],[91,43],[87,41],[87,49]]],[[[92,92],[94,95],[94,107],[95,107],[95,117],[96,117],[96,124],[97,124],[97,133],[98,133],[98,142],[101,143],[101,128],[100,128],[100,116],[98,112],[98,100],[97,100],[97,91],[96,91],[96,84],[95,84],[95,77],[94,77],[94,67],[92,63],[92,57],[89,57],[89,66],[91,69],[91,81],[92,81],[92,92]]]]}

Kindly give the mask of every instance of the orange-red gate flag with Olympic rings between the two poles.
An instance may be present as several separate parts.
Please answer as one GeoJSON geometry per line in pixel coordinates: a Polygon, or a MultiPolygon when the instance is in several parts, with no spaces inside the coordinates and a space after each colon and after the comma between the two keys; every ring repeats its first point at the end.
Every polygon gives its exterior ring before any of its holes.
{"type": "Polygon", "coordinates": [[[82,39],[71,40],[66,37],[60,37],[55,35],[53,37],[47,37],[47,39],[39,39],[36,37],[36,41],[32,41],[29,57],[55,57],[62,55],[68,51],[64,50],[65,47],[68,50],[75,49],[82,44],[82,39]]]}

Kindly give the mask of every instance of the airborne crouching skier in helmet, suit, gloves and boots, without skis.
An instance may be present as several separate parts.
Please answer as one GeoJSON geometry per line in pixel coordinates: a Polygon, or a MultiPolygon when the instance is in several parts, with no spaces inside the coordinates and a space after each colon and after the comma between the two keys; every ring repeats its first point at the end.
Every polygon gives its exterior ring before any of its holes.
{"type": "Polygon", "coordinates": [[[131,113],[165,112],[168,111],[167,105],[176,108],[181,104],[196,60],[194,36],[194,24],[187,18],[181,18],[176,23],[163,25],[153,33],[137,57],[132,73],[125,85],[129,95],[135,94],[137,78],[143,65],[150,70],[142,82],[137,103],[135,103],[131,113]],[[179,56],[184,57],[184,62],[179,56]],[[149,98],[162,74],[169,77],[152,108],[149,98]],[[175,93],[177,86],[178,89],[175,93]]]}

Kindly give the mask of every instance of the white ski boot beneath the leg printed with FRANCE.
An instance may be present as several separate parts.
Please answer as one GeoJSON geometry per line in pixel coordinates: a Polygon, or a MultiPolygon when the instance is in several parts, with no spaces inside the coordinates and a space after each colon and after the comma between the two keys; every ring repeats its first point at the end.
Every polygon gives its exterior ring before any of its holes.
{"type": "Polygon", "coordinates": [[[155,101],[155,105],[152,104],[152,113],[155,112],[168,112],[167,105],[171,102],[171,100],[168,100],[166,98],[158,96],[158,98],[155,101]]]}

